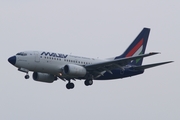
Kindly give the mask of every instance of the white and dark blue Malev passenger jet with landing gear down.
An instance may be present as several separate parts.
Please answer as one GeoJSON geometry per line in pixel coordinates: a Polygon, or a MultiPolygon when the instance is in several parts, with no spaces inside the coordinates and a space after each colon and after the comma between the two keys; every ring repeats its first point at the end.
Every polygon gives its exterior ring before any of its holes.
{"type": "Polygon", "coordinates": [[[145,53],[150,28],[143,28],[123,54],[113,58],[95,59],[75,55],[45,52],[23,51],[8,58],[9,63],[19,71],[26,73],[25,79],[52,83],[58,79],[67,81],[67,89],[73,89],[72,80],[85,80],[86,86],[94,80],[113,80],[144,73],[145,69],[171,63],[173,61],[142,65],[143,58],[159,54],[145,53]]]}

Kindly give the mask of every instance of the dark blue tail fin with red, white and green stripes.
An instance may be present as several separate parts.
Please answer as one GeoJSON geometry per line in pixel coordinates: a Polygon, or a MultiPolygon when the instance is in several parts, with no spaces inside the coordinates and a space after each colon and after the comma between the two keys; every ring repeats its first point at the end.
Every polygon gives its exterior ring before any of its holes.
{"type": "MultiPolygon", "coordinates": [[[[144,54],[146,50],[149,33],[150,33],[149,28],[143,28],[143,30],[139,33],[139,35],[135,38],[135,40],[130,44],[130,46],[124,51],[124,53],[120,56],[115,57],[115,59],[144,54]]],[[[142,62],[143,62],[143,58],[133,60],[131,64],[142,65],[142,62]]]]}

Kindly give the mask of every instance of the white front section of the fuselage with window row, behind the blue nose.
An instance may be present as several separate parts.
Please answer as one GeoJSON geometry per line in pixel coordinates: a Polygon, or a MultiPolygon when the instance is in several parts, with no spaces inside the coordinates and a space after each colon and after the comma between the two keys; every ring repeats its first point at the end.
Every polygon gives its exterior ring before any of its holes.
{"type": "Polygon", "coordinates": [[[49,74],[59,74],[67,64],[83,66],[106,61],[42,51],[25,51],[21,53],[16,54],[16,67],[49,74]]]}

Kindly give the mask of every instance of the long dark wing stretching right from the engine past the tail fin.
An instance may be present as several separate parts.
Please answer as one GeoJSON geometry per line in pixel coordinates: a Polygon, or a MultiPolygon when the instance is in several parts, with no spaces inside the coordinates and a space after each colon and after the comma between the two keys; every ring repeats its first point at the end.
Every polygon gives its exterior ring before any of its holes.
{"type": "Polygon", "coordinates": [[[94,77],[98,77],[100,75],[103,75],[105,72],[109,72],[112,74],[111,72],[112,69],[118,69],[118,68],[124,69],[124,66],[129,64],[132,60],[148,57],[155,54],[158,54],[158,53],[152,52],[148,54],[141,54],[137,56],[131,56],[131,57],[126,57],[126,58],[100,62],[96,64],[86,65],[85,68],[94,77]]]}

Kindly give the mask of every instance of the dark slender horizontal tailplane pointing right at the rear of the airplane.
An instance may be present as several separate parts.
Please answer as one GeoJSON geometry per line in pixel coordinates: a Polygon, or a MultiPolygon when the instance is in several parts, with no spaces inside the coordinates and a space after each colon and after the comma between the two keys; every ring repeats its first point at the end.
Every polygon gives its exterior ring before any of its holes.
{"type": "Polygon", "coordinates": [[[171,62],[174,62],[174,61],[154,63],[154,64],[149,64],[149,65],[142,65],[142,66],[133,67],[133,69],[135,69],[135,70],[144,70],[144,69],[156,67],[156,66],[159,66],[159,65],[164,65],[164,64],[167,64],[167,63],[171,63],[171,62]]]}

